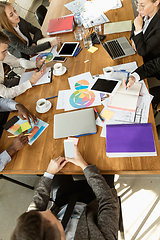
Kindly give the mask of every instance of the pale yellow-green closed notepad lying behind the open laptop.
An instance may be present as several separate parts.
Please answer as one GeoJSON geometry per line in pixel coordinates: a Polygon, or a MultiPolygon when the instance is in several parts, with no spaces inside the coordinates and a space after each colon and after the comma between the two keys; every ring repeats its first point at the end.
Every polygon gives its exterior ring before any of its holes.
{"type": "Polygon", "coordinates": [[[132,20],[104,24],[104,34],[127,32],[132,29],[132,20]]]}

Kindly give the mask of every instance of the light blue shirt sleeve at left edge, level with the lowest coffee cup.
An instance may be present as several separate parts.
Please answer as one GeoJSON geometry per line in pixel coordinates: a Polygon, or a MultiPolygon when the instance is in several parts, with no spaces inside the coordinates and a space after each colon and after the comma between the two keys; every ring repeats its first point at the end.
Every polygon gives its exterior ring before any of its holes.
{"type": "Polygon", "coordinates": [[[8,98],[0,98],[0,112],[14,111],[16,109],[16,102],[8,98]]]}

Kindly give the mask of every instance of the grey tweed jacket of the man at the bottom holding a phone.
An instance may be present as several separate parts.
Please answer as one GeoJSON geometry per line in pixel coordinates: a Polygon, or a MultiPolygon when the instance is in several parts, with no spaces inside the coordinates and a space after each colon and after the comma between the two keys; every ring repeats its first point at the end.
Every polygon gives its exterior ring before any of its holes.
{"type": "MultiPolygon", "coordinates": [[[[84,170],[88,184],[96,199],[84,209],[75,233],[75,240],[118,239],[118,202],[116,190],[110,189],[95,165],[84,170]]],[[[52,180],[42,177],[28,210],[44,211],[47,208],[52,180]]],[[[57,210],[55,208],[55,210],[57,210]]],[[[55,212],[54,212],[55,214],[55,212]]]]}

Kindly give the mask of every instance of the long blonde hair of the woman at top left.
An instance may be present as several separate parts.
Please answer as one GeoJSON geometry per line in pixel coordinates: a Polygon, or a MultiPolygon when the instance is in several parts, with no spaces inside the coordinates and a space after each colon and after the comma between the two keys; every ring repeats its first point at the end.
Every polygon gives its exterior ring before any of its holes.
{"type": "Polygon", "coordinates": [[[16,30],[13,28],[11,22],[9,21],[6,12],[5,12],[5,8],[7,6],[12,6],[11,3],[9,2],[3,2],[0,1],[0,28],[3,30],[6,30],[8,32],[13,33],[14,35],[16,35],[23,43],[26,44],[26,41],[18,35],[18,33],[16,32],[16,30]]]}

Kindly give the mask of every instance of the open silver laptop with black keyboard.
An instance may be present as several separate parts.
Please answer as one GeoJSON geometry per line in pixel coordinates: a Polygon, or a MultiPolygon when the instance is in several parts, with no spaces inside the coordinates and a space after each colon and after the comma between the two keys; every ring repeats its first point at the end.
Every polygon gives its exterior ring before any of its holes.
{"type": "Polygon", "coordinates": [[[97,33],[96,35],[103,48],[113,60],[135,54],[126,37],[116,38],[102,43],[97,33]]]}

